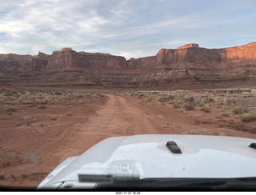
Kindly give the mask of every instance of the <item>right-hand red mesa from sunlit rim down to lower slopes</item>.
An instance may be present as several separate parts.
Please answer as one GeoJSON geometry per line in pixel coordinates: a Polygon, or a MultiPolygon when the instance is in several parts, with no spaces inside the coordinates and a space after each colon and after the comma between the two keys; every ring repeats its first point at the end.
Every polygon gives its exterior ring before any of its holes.
{"type": "Polygon", "coordinates": [[[154,72],[132,82],[136,86],[164,86],[177,83],[256,82],[256,42],[222,49],[187,44],[176,50],[159,50],[154,72]]]}

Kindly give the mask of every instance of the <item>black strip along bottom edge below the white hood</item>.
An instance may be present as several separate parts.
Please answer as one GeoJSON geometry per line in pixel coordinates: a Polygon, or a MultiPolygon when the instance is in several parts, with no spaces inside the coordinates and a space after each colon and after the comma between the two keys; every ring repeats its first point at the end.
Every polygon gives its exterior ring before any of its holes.
{"type": "Polygon", "coordinates": [[[256,190],[256,177],[114,180],[112,184],[98,184],[97,189],[256,190]]]}

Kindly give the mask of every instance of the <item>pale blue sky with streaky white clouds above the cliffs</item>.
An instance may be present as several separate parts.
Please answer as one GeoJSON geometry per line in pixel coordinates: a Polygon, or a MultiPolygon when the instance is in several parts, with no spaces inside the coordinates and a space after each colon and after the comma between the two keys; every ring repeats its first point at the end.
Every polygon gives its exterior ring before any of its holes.
{"type": "Polygon", "coordinates": [[[0,54],[71,47],[142,58],[256,42],[255,0],[0,0],[0,54]]]}

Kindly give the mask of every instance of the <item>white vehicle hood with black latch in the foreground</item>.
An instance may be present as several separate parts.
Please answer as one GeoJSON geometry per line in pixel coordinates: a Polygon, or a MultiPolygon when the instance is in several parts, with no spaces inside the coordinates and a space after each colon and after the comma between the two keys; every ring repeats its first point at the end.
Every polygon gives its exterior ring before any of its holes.
{"type": "Polygon", "coordinates": [[[256,177],[254,139],[198,135],[111,137],[70,157],[38,189],[94,188],[99,182],[143,178],[256,177]],[[181,153],[166,147],[174,141],[181,153]],[[65,184],[64,184],[65,183],[65,184]]]}

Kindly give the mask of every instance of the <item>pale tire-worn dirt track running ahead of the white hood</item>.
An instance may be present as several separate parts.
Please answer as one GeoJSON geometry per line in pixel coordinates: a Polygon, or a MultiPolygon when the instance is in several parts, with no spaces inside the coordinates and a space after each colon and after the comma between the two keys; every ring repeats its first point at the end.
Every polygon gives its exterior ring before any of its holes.
{"type": "MultiPolygon", "coordinates": [[[[101,134],[108,137],[139,133],[161,133],[161,127],[137,104],[129,104],[125,98],[107,95],[106,106],[99,109],[82,127],[83,134],[101,134]]],[[[130,102],[131,103],[131,102],[130,102]]]]}

